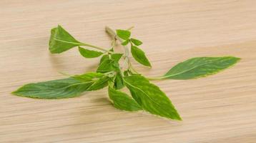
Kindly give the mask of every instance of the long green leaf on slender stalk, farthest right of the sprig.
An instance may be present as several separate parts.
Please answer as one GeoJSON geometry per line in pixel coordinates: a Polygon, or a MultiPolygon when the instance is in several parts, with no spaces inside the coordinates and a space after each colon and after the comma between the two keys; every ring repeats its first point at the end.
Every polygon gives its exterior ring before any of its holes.
{"type": "Polygon", "coordinates": [[[223,69],[227,69],[239,60],[240,58],[233,56],[192,58],[172,67],[172,69],[164,75],[164,78],[195,79],[198,77],[205,77],[210,74],[216,74],[223,69]]]}

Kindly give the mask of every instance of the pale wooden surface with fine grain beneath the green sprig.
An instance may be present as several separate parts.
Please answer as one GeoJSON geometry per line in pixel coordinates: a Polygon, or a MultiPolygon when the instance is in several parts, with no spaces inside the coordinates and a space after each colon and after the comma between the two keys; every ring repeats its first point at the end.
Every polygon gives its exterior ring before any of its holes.
{"type": "Polygon", "coordinates": [[[256,142],[255,0],[1,0],[0,45],[0,142],[256,142]],[[104,26],[135,26],[132,34],[144,41],[153,68],[134,64],[149,76],[195,56],[242,61],[207,78],[155,82],[182,122],[119,111],[106,89],[59,100],[11,95],[22,84],[63,77],[58,71],[94,70],[98,59],[84,59],[77,49],[49,54],[49,31],[57,24],[104,47],[110,46],[104,26]]]}

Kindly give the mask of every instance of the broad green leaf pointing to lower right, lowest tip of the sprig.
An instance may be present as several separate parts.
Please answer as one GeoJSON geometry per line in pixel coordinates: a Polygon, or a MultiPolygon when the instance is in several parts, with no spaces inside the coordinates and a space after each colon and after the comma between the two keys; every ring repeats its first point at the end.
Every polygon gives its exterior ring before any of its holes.
{"type": "Polygon", "coordinates": [[[124,77],[124,82],[135,101],[147,112],[167,117],[169,119],[181,120],[177,110],[169,98],[159,87],[139,75],[124,77]]]}

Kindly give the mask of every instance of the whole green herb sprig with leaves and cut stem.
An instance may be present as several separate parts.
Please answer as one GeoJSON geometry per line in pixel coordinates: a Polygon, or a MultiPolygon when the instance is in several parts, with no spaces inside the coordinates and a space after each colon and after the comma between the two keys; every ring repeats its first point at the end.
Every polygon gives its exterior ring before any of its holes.
{"type": "Polygon", "coordinates": [[[65,79],[25,84],[13,94],[39,99],[64,99],[77,97],[82,92],[108,87],[109,99],[117,109],[126,111],[144,110],[160,117],[181,120],[167,95],[149,80],[205,77],[226,69],[240,60],[233,56],[196,57],[177,64],[162,77],[147,78],[132,68],[129,61],[129,49],[127,48],[127,45],[130,45],[130,51],[136,61],[144,66],[151,67],[144,51],[138,47],[142,45],[142,41],[131,38],[130,29],[117,29],[114,32],[107,27],[106,30],[113,37],[112,47],[109,50],[78,41],[61,26],[51,29],[49,51],[52,54],[59,54],[78,47],[80,54],[85,58],[102,56],[97,70],[65,79]],[[114,52],[117,41],[124,47],[123,54],[114,52]],[[88,49],[88,47],[91,49],[88,49]],[[92,48],[96,50],[92,50],[92,48]],[[127,64],[127,67],[119,65],[120,59],[124,59],[124,64],[127,64]],[[124,87],[129,89],[130,94],[124,92],[124,87]]]}

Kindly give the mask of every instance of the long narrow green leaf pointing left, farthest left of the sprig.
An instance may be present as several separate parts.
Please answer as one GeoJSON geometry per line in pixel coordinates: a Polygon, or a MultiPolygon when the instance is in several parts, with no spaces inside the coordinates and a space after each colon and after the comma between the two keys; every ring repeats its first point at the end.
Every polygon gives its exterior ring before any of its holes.
{"type": "Polygon", "coordinates": [[[12,94],[39,99],[63,99],[78,97],[93,82],[79,82],[76,79],[57,79],[48,82],[26,84],[12,94]]]}

